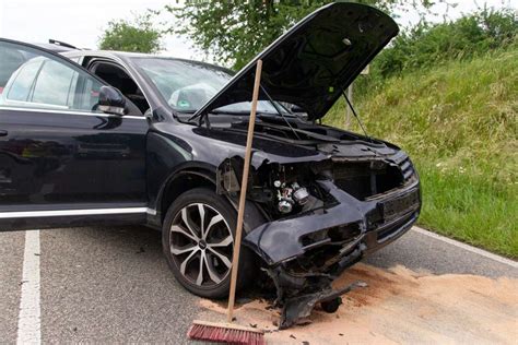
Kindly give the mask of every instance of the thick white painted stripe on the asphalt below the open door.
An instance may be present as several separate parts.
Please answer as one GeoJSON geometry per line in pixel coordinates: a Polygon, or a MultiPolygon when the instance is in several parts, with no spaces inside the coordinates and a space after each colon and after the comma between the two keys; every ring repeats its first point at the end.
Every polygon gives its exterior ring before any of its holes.
{"type": "Polygon", "coordinates": [[[16,344],[40,344],[39,230],[25,231],[16,344]]]}

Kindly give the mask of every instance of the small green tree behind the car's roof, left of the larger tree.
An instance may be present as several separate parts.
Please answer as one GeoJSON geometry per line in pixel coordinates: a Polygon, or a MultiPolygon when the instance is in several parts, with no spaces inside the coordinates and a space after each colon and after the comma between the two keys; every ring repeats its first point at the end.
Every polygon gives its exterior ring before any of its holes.
{"type": "Polygon", "coordinates": [[[108,23],[99,39],[99,49],[157,52],[162,50],[162,31],[153,26],[154,12],[136,16],[132,21],[108,23]]]}

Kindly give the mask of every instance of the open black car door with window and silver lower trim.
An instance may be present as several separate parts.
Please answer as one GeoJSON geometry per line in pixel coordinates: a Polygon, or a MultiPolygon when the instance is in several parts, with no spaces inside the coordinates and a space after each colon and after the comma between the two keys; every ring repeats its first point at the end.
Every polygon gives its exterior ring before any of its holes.
{"type": "Polygon", "coordinates": [[[103,85],[59,55],[0,39],[0,230],[145,219],[148,122],[134,106],[97,110],[103,85]]]}

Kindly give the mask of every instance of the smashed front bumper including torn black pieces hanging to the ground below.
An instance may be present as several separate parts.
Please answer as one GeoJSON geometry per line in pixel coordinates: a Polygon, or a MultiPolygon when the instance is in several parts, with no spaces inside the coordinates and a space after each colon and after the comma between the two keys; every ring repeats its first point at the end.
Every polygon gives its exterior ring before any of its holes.
{"type": "Polygon", "coordinates": [[[407,233],[421,210],[417,177],[364,201],[329,180],[318,183],[335,200],[333,204],[264,223],[244,239],[266,262],[264,271],[275,284],[276,304],[283,307],[280,329],[307,317],[317,302],[339,300],[357,286],[335,290],[331,283],[363,257],[407,233]]]}

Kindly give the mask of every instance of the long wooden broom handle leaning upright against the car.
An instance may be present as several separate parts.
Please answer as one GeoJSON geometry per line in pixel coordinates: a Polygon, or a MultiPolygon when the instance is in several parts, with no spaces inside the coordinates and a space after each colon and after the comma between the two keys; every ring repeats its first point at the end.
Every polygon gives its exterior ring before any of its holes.
{"type": "Polygon", "coordinates": [[[234,240],[234,253],[231,269],[231,290],[228,293],[227,322],[232,322],[234,313],[234,301],[236,298],[237,271],[239,266],[239,250],[242,248],[243,219],[245,217],[246,191],[248,189],[248,171],[250,169],[251,142],[254,140],[254,127],[256,124],[257,99],[259,98],[259,85],[261,82],[262,60],[257,60],[256,79],[251,96],[250,119],[248,122],[248,134],[245,148],[245,166],[243,167],[242,187],[239,193],[239,209],[237,211],[236,238],[234,240]]]}

